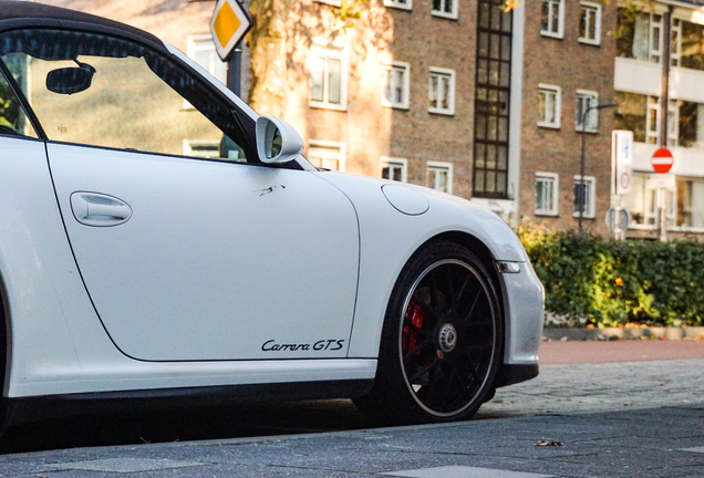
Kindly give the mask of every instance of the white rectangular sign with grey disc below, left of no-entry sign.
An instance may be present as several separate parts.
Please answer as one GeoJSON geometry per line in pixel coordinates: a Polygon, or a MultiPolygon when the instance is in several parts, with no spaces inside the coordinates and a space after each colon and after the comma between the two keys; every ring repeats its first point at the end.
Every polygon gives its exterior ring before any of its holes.
{"type": "Polygon", "coordinates": [[[625,239],[630,224],[630,214],[621,206],[621,197],[631,193],[632,163],[633,132],[614,131],[611,134],[611,194],[619,196],[619,206],[607,212],[607,225],[613,230],[617,240],[625,239]],[[628,220],[621,220],[622,217],[628,220]]]}

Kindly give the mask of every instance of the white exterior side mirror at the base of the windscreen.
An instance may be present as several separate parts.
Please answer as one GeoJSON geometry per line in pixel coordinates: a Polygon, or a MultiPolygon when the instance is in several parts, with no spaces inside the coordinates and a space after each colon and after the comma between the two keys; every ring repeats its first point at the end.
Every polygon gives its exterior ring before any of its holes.
{"type": "Polygon", "coordinates": [[[303,152],[303,139],[293,126],[275,116],[257,118],[257,154],[262,163],[288,163],[303,152]]]}

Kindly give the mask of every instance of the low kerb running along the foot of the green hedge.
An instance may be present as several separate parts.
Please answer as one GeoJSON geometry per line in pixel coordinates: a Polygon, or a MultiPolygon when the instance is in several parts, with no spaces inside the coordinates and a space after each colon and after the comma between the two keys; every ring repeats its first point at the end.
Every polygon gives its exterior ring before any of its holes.
{"type": "Polygon", "coordinates": [[[578,329],[545,328],[542,340],[548,341],[604,341],[623,339],[667,339],[695,340],[704,339],[704,326],[691,328],[645,328],[645,329],[578,329]]]}

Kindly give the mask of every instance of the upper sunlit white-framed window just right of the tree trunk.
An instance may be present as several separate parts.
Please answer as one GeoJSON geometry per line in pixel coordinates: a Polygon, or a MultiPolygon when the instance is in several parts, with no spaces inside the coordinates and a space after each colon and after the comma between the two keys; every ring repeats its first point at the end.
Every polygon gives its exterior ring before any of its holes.
{"type": "Polygon", "coordinates": [[[343,48],[310,50],[310,105],[346,110],[348,55],[343,48]]]}

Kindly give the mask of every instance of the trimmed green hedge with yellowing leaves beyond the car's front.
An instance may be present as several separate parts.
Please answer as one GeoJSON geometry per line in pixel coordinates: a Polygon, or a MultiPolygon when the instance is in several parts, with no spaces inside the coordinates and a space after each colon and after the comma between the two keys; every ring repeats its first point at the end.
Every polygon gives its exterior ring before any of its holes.
{"type": "Polygon", "coordinates": [[[704,325],[703,243],[617,241],[530,222],[517,232],[558,322],[704,325]]]}

